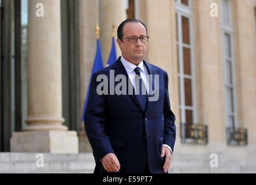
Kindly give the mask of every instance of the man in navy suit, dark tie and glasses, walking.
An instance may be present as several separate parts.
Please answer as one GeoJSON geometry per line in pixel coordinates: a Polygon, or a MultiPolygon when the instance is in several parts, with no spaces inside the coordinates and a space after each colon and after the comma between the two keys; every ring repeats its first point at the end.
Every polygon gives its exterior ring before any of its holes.
{"type": "Polygon", "coordinates": [[[95,172],[167,173],[176,135],[167,72],[143,60],[149,37],[141,21],[123,21],[117,37],[122,56],[93,73],[85,112],[95,172]],[[117,88],[121,81],[125,85],[117,88]],[[150,89],[157,94],[151,101],[150,89]]]}

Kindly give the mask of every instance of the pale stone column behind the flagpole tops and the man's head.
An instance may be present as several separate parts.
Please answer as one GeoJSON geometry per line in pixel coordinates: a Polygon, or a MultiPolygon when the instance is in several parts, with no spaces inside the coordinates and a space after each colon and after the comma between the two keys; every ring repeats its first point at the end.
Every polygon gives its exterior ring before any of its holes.
{"type": "MultiPolygon", "coordinates": [[[[112,26],[118,28],[118,25],[126,19],[125,1],[120,0],[100,0],[99,1],[99,23],[100,23],[100,45],[102,48],[102,58],[104,64],[107,64],[111,50],[111,32],[112,26]]],[[[116,35],[117,38],[117,35],[116,35]]],[[[121,51],[116,44],[117,57],[121,56],[121,51]]]]}

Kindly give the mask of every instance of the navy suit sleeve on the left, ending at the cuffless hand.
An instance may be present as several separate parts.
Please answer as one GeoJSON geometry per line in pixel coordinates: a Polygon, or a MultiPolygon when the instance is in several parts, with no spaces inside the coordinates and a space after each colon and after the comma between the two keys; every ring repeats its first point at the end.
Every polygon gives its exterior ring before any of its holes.
{"type": "Polygon", "coordinates": [[[99,161],[108,153],[114,153],[109,137],[104,132],[105,124],[105,95],[98,95],[96,88],[100,82],[96,82],[97,73],[93,73],[88,103],[86,106],[84,124],[85,132],[92,146],[95,160],[99,161]]]}

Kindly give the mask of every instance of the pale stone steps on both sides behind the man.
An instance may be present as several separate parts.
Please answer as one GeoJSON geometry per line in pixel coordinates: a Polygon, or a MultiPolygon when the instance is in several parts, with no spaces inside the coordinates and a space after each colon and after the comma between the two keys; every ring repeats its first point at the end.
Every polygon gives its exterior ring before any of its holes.
{"type": "MultiPolygon", "coordinates": [[[[37,167],[36,153],[0,153],[0,173],[92,173],[92,153],[44,153],[44,167],[37,167]]],[[[218,168],[211,168],[205,154],[181,154],[172,158],[170,173],[256,173],[254,163],[219,157],[218,168]]]]}

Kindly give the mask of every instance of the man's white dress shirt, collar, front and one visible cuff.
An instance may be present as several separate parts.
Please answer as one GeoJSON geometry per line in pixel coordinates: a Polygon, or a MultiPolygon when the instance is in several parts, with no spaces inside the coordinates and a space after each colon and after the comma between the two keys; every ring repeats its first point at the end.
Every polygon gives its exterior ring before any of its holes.
{"type": "MultiPolygon", "coordinates": [[[[127,60],[125,60],[124,57],[121,57],[121,62],[122,62],[122,65],[124,65],[124,68],[127,71],[129,79],[132,82],[132,86],[134,86],[135,89],[136,89],[136,87],[135,87],[135,75],[136,75],[136,73],[135,73],[134,69],[136,67],[140,68],[140,76],[142,77],[143,82],[144,83],[146,82],[145,86],[146,86],[146,89],[147,89],[147,94],[149,94],[149,80],[148,80],[149,78],[147,77],[148,73],[147,73],[147,68],[144,65],[144,62],[141,61],[139,63],[139,65],[136,66],[136,65],[132,64],[131,62],[128,62],[127,60]]],[[[164,144],[163,146],[168,147],[168,149],[170,149],[171,153],[172,153],[172,149],[169,145],[164,144]]]]}

